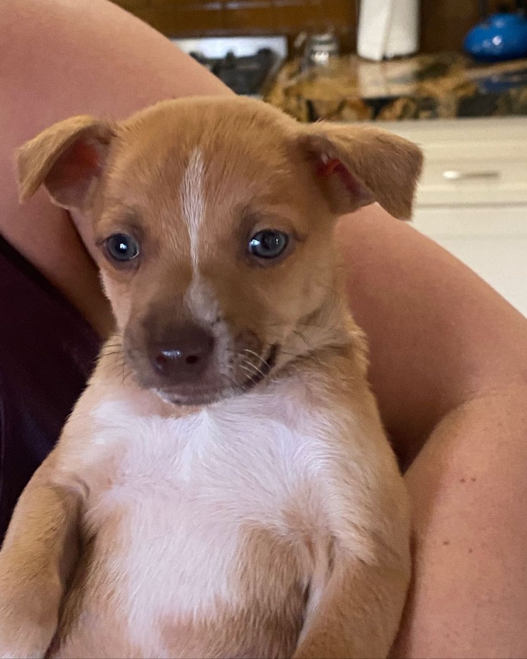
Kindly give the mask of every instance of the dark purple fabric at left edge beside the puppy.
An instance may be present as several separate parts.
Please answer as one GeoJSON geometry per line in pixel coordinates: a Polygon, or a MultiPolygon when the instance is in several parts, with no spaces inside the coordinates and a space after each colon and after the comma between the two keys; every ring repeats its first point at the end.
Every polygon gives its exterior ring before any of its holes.
{"type": "Polygon", "coordinates": [[[0,237],[0,544],[98,349],[84,318],[0,237]]]}

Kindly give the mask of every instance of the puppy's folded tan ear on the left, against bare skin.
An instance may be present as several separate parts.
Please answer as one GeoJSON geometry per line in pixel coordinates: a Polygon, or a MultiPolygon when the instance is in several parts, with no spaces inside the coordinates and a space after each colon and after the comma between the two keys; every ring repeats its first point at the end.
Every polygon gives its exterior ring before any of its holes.
{"type": "Polygon", "coordinates": [[[111,123],[84,115],[60,121],[26,142],[16,152],[20,200],[44,185],[57,206],[86,208],[114,136],[111,123]]]}

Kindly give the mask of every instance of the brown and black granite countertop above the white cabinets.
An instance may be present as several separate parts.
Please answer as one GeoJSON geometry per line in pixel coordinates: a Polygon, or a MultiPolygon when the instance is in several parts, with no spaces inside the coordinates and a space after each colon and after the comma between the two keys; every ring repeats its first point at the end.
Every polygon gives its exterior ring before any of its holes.
{"type": "Polygon", "coordinates": [[[300,121],[395,121],[527,115],[527,59],[476,63],[460,53],[279,71],[265,100],[300,121]]]}

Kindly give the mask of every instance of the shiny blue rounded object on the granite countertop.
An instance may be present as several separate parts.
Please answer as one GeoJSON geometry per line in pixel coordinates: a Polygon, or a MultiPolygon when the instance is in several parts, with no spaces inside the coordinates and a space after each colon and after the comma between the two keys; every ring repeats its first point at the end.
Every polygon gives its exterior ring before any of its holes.
{"type": "Polygon", "coordinates": [[[495,62],[527,57],[527,18],[522,14],[493,14],[465,37],[467,53],[495,62]]]}

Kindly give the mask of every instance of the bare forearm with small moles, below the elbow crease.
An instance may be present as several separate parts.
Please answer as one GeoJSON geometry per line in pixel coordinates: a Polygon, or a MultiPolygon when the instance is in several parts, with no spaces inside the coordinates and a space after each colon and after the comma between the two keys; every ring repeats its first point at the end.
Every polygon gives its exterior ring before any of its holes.
{"type": "Polygon", "coordinates": [[[414,583],[393,656],[524,656],[526,411],[526,385],[473,399],[406,473],[414,583]]]}

